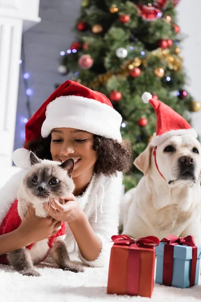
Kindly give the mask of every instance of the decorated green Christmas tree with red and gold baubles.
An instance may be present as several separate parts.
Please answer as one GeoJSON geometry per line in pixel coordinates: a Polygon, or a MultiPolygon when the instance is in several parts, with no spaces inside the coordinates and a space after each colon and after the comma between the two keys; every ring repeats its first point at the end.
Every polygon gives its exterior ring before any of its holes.
{"type": "MultiPolygon", "coordinates": [[[[142,102],[147,91],[189,121],[200,103],[185,91],[175,7],[179,0],[82,0],[77,40],[61,52],[59,72],[105,94],[123,117],[123,138],[136,158],[156,129],[153,108],[142,102]]],[[[124,177],[126,189],[142,174],[124,177]]]]}

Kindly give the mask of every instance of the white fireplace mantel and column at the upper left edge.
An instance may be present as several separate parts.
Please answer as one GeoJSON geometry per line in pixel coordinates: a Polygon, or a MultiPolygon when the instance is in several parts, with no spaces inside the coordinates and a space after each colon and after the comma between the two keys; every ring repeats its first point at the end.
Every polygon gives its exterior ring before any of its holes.
{"type": "Polygon", "coordinates": [[[40,0],[0,0],[0,168],[12,167],[22,33],[41,21],[40,0]]]}

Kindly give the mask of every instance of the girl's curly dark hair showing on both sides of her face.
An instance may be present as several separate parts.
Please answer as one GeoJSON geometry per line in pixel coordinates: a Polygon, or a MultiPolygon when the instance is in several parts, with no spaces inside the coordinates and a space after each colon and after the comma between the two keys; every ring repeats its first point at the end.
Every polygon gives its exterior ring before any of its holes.
{"type": "MultiPolygon", "coordinates": [[[[50,143],[51,134],[48,137],[41,136],[37,140],[27,142],[24,146],[34,152],[38,158],[52,161],[50,143]]],[[[129,140],[119,143],[117,140],[94,134],[93,150],[98,154],[94,173],[109,176],[117,171],[130,172],[133,153],[129,140]]]]}

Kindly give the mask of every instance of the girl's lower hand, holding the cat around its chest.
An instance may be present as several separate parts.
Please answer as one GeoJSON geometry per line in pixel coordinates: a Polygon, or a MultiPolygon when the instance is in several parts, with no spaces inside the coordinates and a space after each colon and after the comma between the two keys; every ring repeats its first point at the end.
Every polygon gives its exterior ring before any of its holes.
{"type": "Polygon", "coordinates": [[[49,238],[60,229],[61,221],[52,217],[41,218],[36,216],[31,204],[26,216],[17,231],[28,242],[27,245],[49,238]]]}

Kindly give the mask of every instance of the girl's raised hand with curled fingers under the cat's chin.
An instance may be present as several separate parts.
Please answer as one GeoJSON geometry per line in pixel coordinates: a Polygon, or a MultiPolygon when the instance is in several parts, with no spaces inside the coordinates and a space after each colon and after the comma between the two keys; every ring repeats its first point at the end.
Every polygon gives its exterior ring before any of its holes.
{"type": "Polygon", "coordinates": [[[68,223],[83,217],[84,212],[73,194],[68,194],[65,199],[60,198],[60,200],[64,204],[59,203],[56,199],[53,199],[51,204],[44,203],[44,209],[51,217],[68,223]]]}

